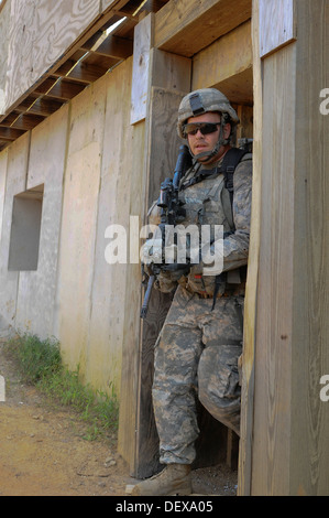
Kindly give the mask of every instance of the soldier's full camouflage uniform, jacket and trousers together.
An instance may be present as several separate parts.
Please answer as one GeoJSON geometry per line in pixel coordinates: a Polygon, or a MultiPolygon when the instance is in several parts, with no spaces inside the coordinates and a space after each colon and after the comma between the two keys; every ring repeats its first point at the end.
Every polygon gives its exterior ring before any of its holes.
{"type": "MultiPolygon", "coordinates": [[[[182,184],[196,172],[190,170],[182,184]]],[[[216,278],[200,278],[200,263],[193,267],[187,277],[178,279],[178,288],[155,345],[152,395],[160,435],[160,460],[164,464],[191,464],[195,458],[194,443],[199,433],[196,396],[216,419],[239,434],[238,358],[242,353],[245,283],[241,267],[246,265],[249,250],[251,154],[246,154],[237,166],[233,182],[232,209],[231,206],[228,209],[228,191],[222,174],[206,177],[179,193],[186,208],[184,226],[223,225],[224,231],[233,229],[233,233],[223,240],[227,281],[220,287],[213,311],[216,278]]],[[[175,276],[161,273],[157,284],[162,291],[168,292],[177,281],[175,276]]]]}

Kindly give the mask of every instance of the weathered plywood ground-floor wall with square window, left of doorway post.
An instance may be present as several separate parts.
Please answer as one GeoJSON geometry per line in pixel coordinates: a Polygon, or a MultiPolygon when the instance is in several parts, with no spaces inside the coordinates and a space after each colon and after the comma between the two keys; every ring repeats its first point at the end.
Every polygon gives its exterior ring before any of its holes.
{"type": "Polygon", "coordinates": [[[0,154],[0,314],[22,332],[57,337],[72,368],[117,392],[125,312],[139,320],[131,292],[140,298],[140,270],[107,263],[105,231],[120,224],[129,239],[130,214],[143,208],[144,131],[130,125],[131,75],[127,60],[0,154]],[[8,271],[13,196],[40,184],[37,270],[8,271]]]}

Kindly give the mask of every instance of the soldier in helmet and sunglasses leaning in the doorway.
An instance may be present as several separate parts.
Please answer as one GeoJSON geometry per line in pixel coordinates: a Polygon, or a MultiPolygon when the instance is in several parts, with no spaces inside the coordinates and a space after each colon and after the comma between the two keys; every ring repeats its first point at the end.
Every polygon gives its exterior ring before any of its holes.
{"type": "MultiPolygon", "coordinates": [[[[201,260],[188,272],[161,271],[156,279],[164,292],[178,284],[155,344],[152,388],[160,462],[166,467],[139,483],[133,495],[191,494],[190,466],[199,434],[196,397],[239,434],[238,359],[243,338],[252,155],[230,144],[238,123],[229,100],[215,88],[193,91],[180,102],[178,134],[187,140],[193,165],[180,182],[185,216],[179,223],[185,227],[223,226],[222,247],[218,248],[222,269],[209,273],[200,250],[201,260]]],[[[157,211],[154,204],[153,223],[158,223],[157,211]]],[[[213,233],[211,236],[213,239],[213,233]]],[[[215,245],[211,242],[211,252],[217,250],[215,245]]]]}

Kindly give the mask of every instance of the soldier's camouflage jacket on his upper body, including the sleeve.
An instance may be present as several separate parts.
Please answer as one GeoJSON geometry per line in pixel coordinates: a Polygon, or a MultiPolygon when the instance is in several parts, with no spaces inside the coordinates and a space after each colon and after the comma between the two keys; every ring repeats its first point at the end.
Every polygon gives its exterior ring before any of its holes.
{"type": "MultiPolygon", "coordinates": [[[[221,161],[212,164],[220,166],[221,161]]],[[[182,180],[180,186],[188,185],[189,180],[200,170],[200,165],[191,168],[182,180]]],[[[207,168],[202,166],[202,171],[207,168]]],[[[210,227],[211,253],[216,252],[216,236],[213,228],[216,225],[222,225],[226,237],[222,246],[219,247],[222,255],[222,270],[212,268],[211,273],[205,274],[206,265],[200,262],[193,267],[186,277],[180,277],[179,284],[191,292],[207,293],[212,295],[216,276],[223,272],[228,273],[228,283],[240,283],[239,269],[248,262],[249,239],[250,239],[250,219],[251,219],[251,193],[252,193],[252,154],[245,154],[237,165],[233,174],[233,201],[231,204],[230,195],[224,186],[223,174],[213,174],[205,176],[201,182],[191,184],[179,192],[179,201],[185,209],[185,216],[177,222],[187,227],[197,225],[200,229],[204,225],[210,227]],[[233,273],[232,273],[233,272],[233,273]]],[[[155,208],[155,206],[153,205],[155,208]]],[[[152,211],[151,211],[152,212],[152,211]]],[[[177,276],[162,273],[160,279],[160,289],[162,291],[172,291],[177,276]],[[174,282],[171,282],[174,281],[174,282]]]]}

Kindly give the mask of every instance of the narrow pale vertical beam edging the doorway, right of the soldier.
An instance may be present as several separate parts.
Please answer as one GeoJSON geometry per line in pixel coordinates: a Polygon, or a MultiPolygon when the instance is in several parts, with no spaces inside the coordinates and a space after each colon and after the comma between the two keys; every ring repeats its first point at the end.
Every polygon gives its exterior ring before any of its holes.
{"type": "Polygon", "coordinates": [[[253,44],[253,185],[252,185],[252,214],[251,240],[249,250],[249,265],[246,290],[244,300],[243,325],[243,361],[241,387],[241,424],[240,451],[238,470],[238,495],[251,495],[252,478],[252,440],[253,440],[253,411],[254,411],[254,370],[255,370],[255,323],[257,311],[257,287],[260,266],[261,240],[261,201],[262,201],[262,134],[263,134],[263,88],[262,65],[259,60],[259,2],[253,2],[252,12],[252,44],[253,44]]]}

